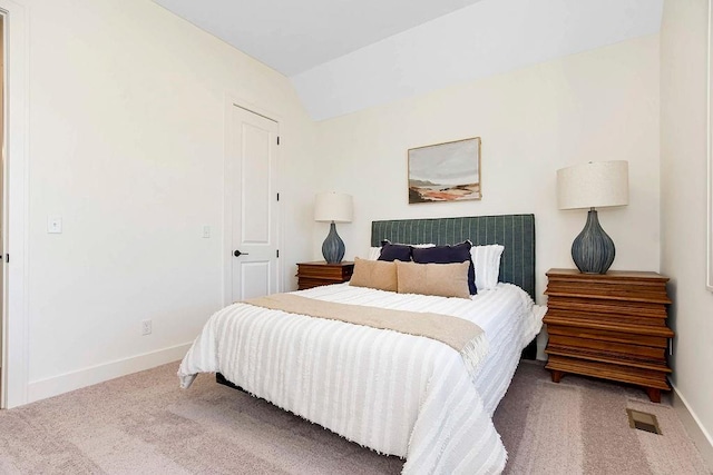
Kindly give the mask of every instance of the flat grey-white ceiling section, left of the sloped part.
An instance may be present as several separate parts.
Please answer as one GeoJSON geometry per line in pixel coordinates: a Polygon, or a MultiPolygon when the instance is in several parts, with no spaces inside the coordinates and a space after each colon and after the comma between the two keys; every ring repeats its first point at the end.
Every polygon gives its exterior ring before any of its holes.
{"type": "Polygon", "coordinates": [[[478,0],[155,0],[294,76],[478,0]]]}

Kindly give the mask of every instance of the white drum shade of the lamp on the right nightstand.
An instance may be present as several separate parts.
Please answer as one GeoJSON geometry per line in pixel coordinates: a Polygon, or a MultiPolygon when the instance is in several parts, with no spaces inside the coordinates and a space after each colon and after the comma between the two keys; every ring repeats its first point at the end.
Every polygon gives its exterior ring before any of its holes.
{"type": "Polygon", "coordinates": [[[628,204],[628,161],[590,161],[557,170],[559,209],[628,204]]]}

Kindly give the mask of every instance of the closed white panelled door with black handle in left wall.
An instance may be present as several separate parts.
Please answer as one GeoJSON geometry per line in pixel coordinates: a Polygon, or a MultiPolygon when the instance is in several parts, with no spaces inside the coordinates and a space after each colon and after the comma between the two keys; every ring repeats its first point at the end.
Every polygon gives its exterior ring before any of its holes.
{"type": "Polygon", "coordinates": [[[235,105],[228,120],[226,243],[232,303],[279,291],[279,123],[235,105]]]}

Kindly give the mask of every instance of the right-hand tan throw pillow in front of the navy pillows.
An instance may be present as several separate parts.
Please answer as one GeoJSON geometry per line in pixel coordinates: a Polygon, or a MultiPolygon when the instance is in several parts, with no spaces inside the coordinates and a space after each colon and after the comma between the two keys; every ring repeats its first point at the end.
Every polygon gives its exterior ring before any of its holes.
{"type": "Polygon", "coordinates": [[[416,264],[395,261],[399,294],[438,295],[470,298],[470,261],[455,264],[416,264]]]}

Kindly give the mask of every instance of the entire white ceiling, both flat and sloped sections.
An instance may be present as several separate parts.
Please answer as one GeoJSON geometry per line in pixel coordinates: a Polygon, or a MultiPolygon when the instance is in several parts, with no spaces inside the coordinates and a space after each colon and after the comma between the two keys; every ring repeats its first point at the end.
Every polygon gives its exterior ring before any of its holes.
{"type": "Polygon", "coordinates": [[[274,68],[315,120],[656,33],[663,0],[154,0],[274,68]]]}

